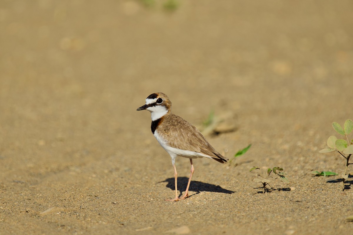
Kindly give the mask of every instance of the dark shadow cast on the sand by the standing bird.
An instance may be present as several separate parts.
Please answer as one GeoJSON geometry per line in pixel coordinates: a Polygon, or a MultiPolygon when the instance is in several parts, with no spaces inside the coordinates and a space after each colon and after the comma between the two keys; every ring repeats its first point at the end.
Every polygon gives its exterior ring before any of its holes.
{"type": "MultiPolygon", "coordinates": [[[[189,181],[189,178],[187,177],[178,177],[178,190],[180,192],[183,192],[186,190],[187,182],[189,181]]],[[[163,183],[167,182],[168,184],[166,185],[167,188],[170,188],[171,190],[175,190],[175,185],[174,185],[174,178],[168,178],[164,181],[158,182],[158,183],[163,183]]],[[[208,184],[208,183],[203,183],[200,181],[194,181],[192,180],[190,182],[190,187],[189,191],[196,192],[194,194],[191,194],[189,197],[199,194],[200,192],[207,191],[207,192],[217,192],[217,193],[228,193],[232,194],[235,193],[234,191],[227,190],[225,188],[222,188],[219,185],[214,185],[214,184],[208,184]]],[[[180,193],[180,196],[182,193],[180,193]]]]}

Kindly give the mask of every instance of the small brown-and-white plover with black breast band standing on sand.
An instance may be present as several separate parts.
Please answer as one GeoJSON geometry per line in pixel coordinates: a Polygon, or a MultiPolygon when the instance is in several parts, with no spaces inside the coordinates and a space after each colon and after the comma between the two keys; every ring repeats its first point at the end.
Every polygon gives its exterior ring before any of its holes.
{"type": "Polygon", "coordinates": [[[220,163],[227,162],[228,159],[217,152],[195,126],[172,113],[172,102],[166,94],[161,92],[150,94],[146,98],[145,105],[137,109],[137,111],[140,110],[151,112],[152,134],[172,158],[175,198],[167,199],[167,201],[177,202],[189,197],[189,186],[195,171],[192,159],[207,157],[220,163]],[[177,156],[189,158],[191,163],[189,182],[184,195],[180,198],[177,190],[178,173],[175,167],[175,158],[177,156]]]}

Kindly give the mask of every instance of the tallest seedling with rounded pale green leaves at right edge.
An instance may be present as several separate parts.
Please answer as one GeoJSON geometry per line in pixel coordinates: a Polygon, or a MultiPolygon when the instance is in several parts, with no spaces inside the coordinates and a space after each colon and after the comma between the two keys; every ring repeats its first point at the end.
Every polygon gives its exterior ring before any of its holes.
{"type": "Polygon", "coordinates": [[[351,119],[347,119],[344,124],[344,129],[340,126],[340,124],[333,122],[333,129],[340,135],[346,136],[347,140],[337,139],[336,136],[330,136],[327,140],[327,146],[329,148],[325,148],[319,151],[319,153],[329,153],[332,151],[337,151],[341,156],[346,159],[346,168],[345,172],[341,174],[342,176],[342,191],[345,190],[345,180],[348,178],[347,169],[348,166],[353,164],[349,163],[349,158],[353,154],[353,139],[351,141],[348,140],[348,135],[351,134],[353,130],[353,121],[351,119]]]}

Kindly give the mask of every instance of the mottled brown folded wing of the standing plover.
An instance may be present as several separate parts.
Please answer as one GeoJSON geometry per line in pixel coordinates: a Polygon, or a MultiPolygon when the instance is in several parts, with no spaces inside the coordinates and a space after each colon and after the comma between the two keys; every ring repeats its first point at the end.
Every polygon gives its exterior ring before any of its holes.
{"type": "Polygon", "coordinates": [[[208,143],[195,126],[191,125],[183,118],[173,113],[165,115],[163,117],[162,126],[158,126],[158,134],[168,136],[170,139],[175,140],[174,142],[169,142],[170,147],[202,153],[221,163],[228,160],[208,143]]]}

